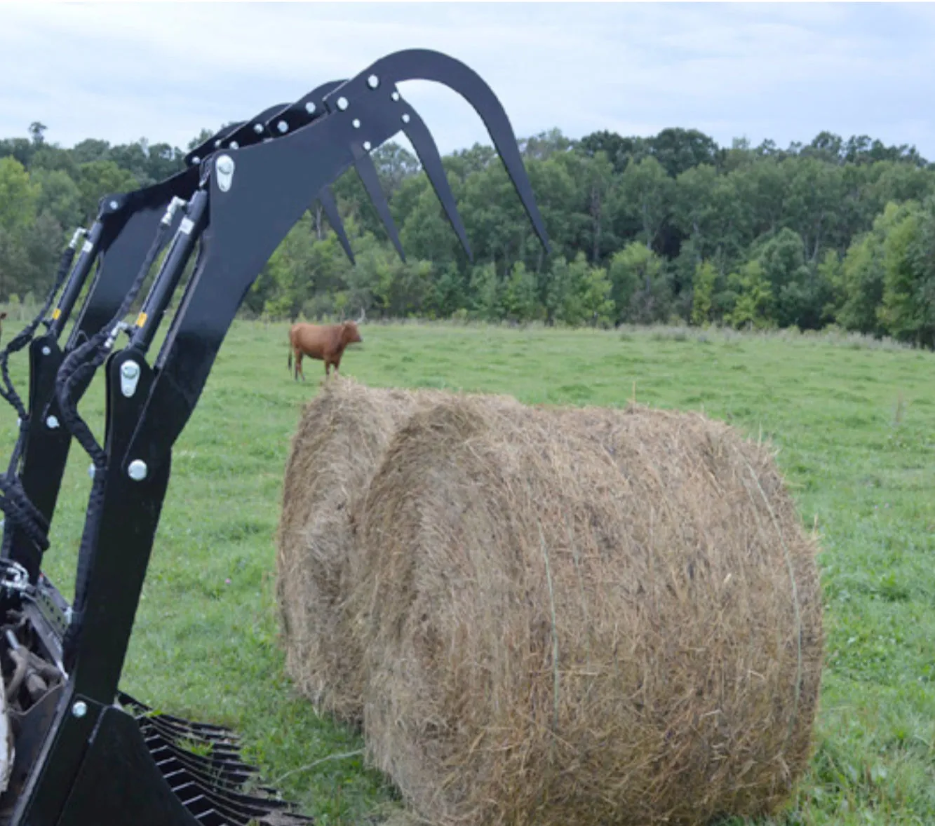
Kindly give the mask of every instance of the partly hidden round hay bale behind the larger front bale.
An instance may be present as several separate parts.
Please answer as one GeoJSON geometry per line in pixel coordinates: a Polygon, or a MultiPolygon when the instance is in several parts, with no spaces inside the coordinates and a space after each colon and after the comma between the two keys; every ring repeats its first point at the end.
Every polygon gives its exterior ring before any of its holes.
{"type": "Polygon", "coordinates": [[[362,714],[360,649],[343,613],[350,513],[399,424],[439,398],[336,377],[305,406],[293,437],[276,556],[286,671],[320,711],[347,722],[362,714]]]}

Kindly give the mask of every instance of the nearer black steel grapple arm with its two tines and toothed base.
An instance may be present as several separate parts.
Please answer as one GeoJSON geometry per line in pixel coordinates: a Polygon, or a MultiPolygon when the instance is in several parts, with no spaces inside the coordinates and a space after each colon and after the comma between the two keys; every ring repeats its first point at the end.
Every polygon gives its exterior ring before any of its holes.
{"type": "MultiPolygon", "coordinates": [[[[73,605],[43,575],[34,579],[17,559],[0,560],[0,662],[18,761],[0,797],[0,826],[308,822],[271,790],[244,790],[242,780],[252,775],[251,767],[239,762],[229,733],[150,714],[122,693],[119,683],[172,448],[237,310],[309,207],[309,193],[326,192],[352,166],[359,170],[369,162],[369,151],[413,121],[414,110],[396,90],[397,80],[413,78],[444,82],[478,110],[548,251],[506,114],[481,78],[438,52],[390,55],[324,93],[321,106],[309,107],[306,101],[299,109],[305,113],[298,119],[302,122],[277,126],[279,136],[268,128],[256,130],[256,121],[243,121],[221,145],[193,158],[189,171],[197,185],[184,199],[180,221],[176,225],[176,216],[168,212],[157,219],[155,240],[112,315],[94,335],[76,341],[54,378],[53,402],[63,429],[94,463],[73,605]],[[235,134],[257,139],[244,145],[230,136],[235,134]],[[169,235],[165,259],[137,318],[126,324],[123,318],[149,264],[169,235]],[[194,271],[181,288],[195,249],[194,271]],[[150,362],[151,345],[180,289],[179,306],[150,362]],[[119,349],[124,333],[129,342],[119,349]],[[105,366],[107,398],[103,445],[96,443],[77,408],[99,364],[105,366]],[[20,668],[20,662],[26,665],[20,668]],[[14,666],[16,674],[8,676],[14,666]],[[21,672],[20,682],[12,685],[21,672]],[[187,737],[204,744],[209,757],[184,748],[187,737]]],[[[290,116],[294,107],[289,107],[290,116]]],[[[420,157],[437,154],[434,142],[426,141],[427,130],[414,134],[420,157]]],[[[447,180],[439,182],[440,161],[428,165],[433,168],[429,179],[457,232],[460,219],[453,199],[447,202],[447,180]]],[[[466,237],[463,242],[467,245],[466,237]]]]}

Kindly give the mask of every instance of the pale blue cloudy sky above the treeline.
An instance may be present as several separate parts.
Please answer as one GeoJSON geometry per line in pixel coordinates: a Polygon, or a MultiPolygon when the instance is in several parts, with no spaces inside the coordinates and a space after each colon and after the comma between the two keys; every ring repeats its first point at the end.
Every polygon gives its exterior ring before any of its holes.
{"type": "MultiPolygon", "coordinates": [[[[468,64],[517,137],[822,130],[935,160],[935,7],[896,3],[0,3],[0,137],[63,147],[200,130],[422,48],[468,64]]],[[[457,93],[399,86],[442,153],[489,143],[457,93]]],[[[403,141],[404,142],[404,141],[403,141]]]]}

